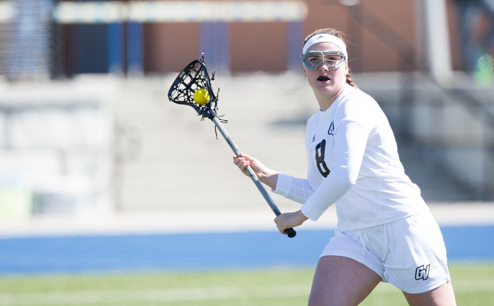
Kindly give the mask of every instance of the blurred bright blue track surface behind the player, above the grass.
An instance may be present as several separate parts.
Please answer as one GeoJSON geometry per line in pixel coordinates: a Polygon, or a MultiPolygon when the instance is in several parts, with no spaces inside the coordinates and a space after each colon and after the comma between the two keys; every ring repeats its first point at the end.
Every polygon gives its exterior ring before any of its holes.
{"type": "MultiPolygon", "coordinates": [[[[494,261],[494,226],[442,227],[448,259],[494,261]]],[[[0,239],[0,275],[315,265],[333,230],[0,239]]]]}

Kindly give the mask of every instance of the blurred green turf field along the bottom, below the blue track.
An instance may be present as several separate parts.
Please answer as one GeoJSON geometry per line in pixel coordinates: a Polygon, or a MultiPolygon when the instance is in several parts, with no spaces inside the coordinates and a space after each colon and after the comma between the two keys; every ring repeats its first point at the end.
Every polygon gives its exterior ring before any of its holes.
{"type": "MultiPolygon", "coordinates": [[[[494,263],[450,266],[458,305],[492,305],[494,263]]],[[[301,306],[313,268],[0,277],[0,306],[301,306]]],[[[381,283],[362,305],[406,305],[381,283]]]]}

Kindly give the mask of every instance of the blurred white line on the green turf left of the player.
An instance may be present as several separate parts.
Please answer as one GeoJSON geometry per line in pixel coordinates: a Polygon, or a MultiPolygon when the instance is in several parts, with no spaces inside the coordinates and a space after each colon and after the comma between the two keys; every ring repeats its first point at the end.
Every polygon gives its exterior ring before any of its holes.
{"type": "Polygon", "coordinates": [[[309,295],[303,286],[273,286],[241,290],[234,287],[163,290],[88,290],[72,292],[0,294],[0,306],[90,305],[96,303],[177,302],[226,300],[241,297],[296,297],[309,295]]]}

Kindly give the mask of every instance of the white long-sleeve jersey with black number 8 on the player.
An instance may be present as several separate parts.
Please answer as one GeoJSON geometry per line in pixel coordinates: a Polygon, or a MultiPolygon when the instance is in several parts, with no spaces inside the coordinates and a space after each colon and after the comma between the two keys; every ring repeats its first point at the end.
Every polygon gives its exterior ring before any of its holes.
{"type": "Polygon", "coordinates": [[[307,122],[307,178],[278,176],[275,193],[302,203],[317,220],[336,203],[338,229],[367,228],[428,207],[405,174],[393,131],[377,102],[345,88],[307,122]]]}

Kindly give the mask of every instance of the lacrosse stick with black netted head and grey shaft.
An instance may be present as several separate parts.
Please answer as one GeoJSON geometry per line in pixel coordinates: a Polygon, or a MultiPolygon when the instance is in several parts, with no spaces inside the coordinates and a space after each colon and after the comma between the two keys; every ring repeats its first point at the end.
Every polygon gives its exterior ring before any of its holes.
{"type": "MultiPolygon", "coordinates": [[[[226,122],[225,120],[219,119],[216,113],[218,109],[218,97],[214,94],[211,88],[211,80],[214,80],[214,73],[212,74],[212,78],[209,79],[209,75],[207,74],[207,68],[204,62],[204,53],[201,55],[201,58],[192,61],[187,67],[182,70],[182,72],[178,75],[173,82],[173,85],[170,87],[168,91],[168,99],[171,102],[177,104],[189,105],[194,108],[198,115],[202,116],[202,120],[204,118],[211,119],[214,123],[217,130],[220,131],[223,138],[225,138],[226,142],[235,153],[235,155],[240,156],[240,150],[235,145],[235,143],[230,138],[230,135],[226,132],[225,128],[221,124],[221,122],[226,122]],[[200,105],[194,101],[194,92],[199,89],[206,89],[209,94],[209,101],[200,105]]],[[[219,88],[218,88],[219,92],[219,88]]],[[[262,186],[261,182],[257,178],[257,175],[254,174],[252,168],[247,167],[247,174],[250,176],[252,181],[254,182],[257,189],[259,189],[260,193],[268,203],[271,210],[275,213],[276,216],[281,215],[280,210],[276,206],[275,202],[268,194],[266,189],[262,186]]],[[[288,237],[295,237],[296,232],[293,228],[285,229],[288,237]]]]}

